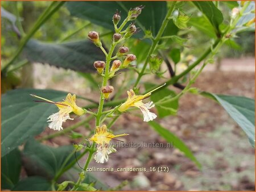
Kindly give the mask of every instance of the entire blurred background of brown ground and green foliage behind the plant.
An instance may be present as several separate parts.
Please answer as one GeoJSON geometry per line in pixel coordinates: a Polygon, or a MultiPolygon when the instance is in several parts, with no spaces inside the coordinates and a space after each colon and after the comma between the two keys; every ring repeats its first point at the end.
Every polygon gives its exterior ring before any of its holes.
{"type": "MultiPolygon", "coordinates": [[[[19,15],[20,24],[24,32],[28,32],[36,19],[47,8],[49,2],[1,2],[3,9],[19,15]]],[[[189,10],[189,5],[185,8],[189,10]]],[[[229,9],[220,3],[220,10],[225,18],[229,18],[229,9]]],[[[191,10],[191,14],[196,14],[191,10]]],[[[175,29],[174,29],[175,30],[175,29]]],[[[191,56],[192,59],[208,47],[209,37],[192,25],[189,26],[186,47],[181,57],[191,56]]],[[[44,24],[33,39],[44,42],[63,43],[69,41],[85,40],[89,31],[98,31],[108,45],[112,33],[103,27],[90,23],[89,20],[71,16],[67,7],[63,6],[55,12],[51,19],[44,24]]],[[[19,47],[19,37],[13,31],[10,20],[2,18],[1,22],[1,62],[2,65],[10,60],[19,47]]],[[[180,31],[179,34],[182,35],[180,31]]],[[[255,97],[255,32],[241,32],[234,41],[226,43],[216,56],[213,64],[209,64],[195,83],[195,87],[211,93],[241,95],[249,98],[255,97]]],[[[131,52],[137,55],[138,62],[143,56],[144,43],[138,39],[129,40],[127,47],[132,46],[131,52]],[[139,47],[141,46],[141,47],[139,47]]],[[[195,58],[194,58],[195,57],[195,58]]],[[[2,78],[2,94],[7,90],[18,87],[34,87],[35,89],[55,89],[71,92],[77,95],[86,95],[98,98],[98,76],[95,72],[77,73],[70,69],[56,68],[47,63],[30,62],[26,60],[26,53],[19,57],[20,65],[28,64],[14,70],[9,76],[2,78]]],[[[89,68],[93,69],[92,63],[89,68]]],[[[162,71],[166,66],[161,67],[162,71]]],[[[125,74],[125,73],[124,73],[125,74]]],[[[133,76],[133,72],[126,73],[133,76]]],[[[164,73],[165,78],[170,78],[164,73]]],[[[161,82],[156,75],[143,77],[144,82],[161,82]]],[[[122,82],[115,82],[122,85],[122,82]]],[[[179,89],[171,87],[176,92],[179,89]]],[[[123,94],[123,98],[126,97],[123,94]]],[[[88,103],[79,101],[80,105],[88,103]]],[[[76,119],[78,121],[78,119],[76,119]]],[[[75,121],[76,121],[75,120],[75,121]]],[[[175,116],[158,119],[159,123],[179,136],[191,148],[197,160],[202,164],[202,170],[174,148],[118,148],[118,153],[110,155],[108,163],[99,165],[94,163],[90,167],[120,167],[130,166],[146,167],[168,166],[169,173],[138,173],[138,172],[96,172],[94,176],[101,178],[102,182],[110,187],[118,186],[123,181],[122,190],[255,190],[255,157],[254,149],[250,147],[245,133],[230,118],[230,116],[216,102],[207,98],[185,94],[179,100],[179,110],[175,116]]],[[[75,122],[66,122],[68,127],[75,122]]],[[[94,121],[80,126],[76,132],[89,135],[94,121]]],[[[141,123],[141,118],[133,113],[125,114],[113,126],[114,132],[128,132],[126,141],[134,143],[166,143],[147,123],[141,123]]],[[[54,131],[46,128],[39,137],[54,131]]],[[[82,141],[81,139],[79,141],[82,141]]],[[[71,136],[59,136],[44,141],[51,146],[78,143],[71,136]]],[[[84,160],[80,160],[81,163],[84,160]]],[[[24,162],[26,163],[26,162],[24,162]]],[[[26,166],[26,165],[25,165],[26,166]]],[[[70,171],[71,177],[77,177],[77,169],[70,171]]],[[[22,177],[27,171],[23,168],[22,177]]]]}

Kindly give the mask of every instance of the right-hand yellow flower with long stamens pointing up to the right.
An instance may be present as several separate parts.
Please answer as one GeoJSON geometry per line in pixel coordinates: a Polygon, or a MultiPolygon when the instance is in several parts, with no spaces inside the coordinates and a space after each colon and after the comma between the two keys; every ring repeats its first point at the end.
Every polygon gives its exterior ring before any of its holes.
{"type": "MultiPolygon", "coordinates": [[[[166,85],[166,84],[164,84],[166,85]]],[[[130,91],[127,91],[128,94],[128,98],[126,100],[125,103],[123,103],[119,108],[118,111],[123,112],[126,111],[129,107],[138,107],[143,114],[143,120],[144,122],[149,122],[150,120],[153,120],[156,118],[156,114],[154,114],[154,112],[150,112],[148,109],[154,107],[154,103],[148,102],[148,103],[143,103],[142,99],[146,99],[148,97],[150,97],[151,93],[157,89],[159,89],[160,87],[164,86],[161,85],[159,87],[157,87],[156,89],[144,94],[144,95],[135,95],[134,91],[132,89],[130,89],[130,91]]]]}

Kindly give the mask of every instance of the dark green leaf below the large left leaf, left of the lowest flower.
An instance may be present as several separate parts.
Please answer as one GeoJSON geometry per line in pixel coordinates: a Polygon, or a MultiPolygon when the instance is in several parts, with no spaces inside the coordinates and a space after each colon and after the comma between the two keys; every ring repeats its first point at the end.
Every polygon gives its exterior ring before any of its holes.
{"type": "Polygon", "coordinates": [[[27,162],[26,169],[33,175],[52,179],[65,165],[75,160],[73,155],[66,161],[73,149],[72,145],[53,148],[34,139],[28,140],[23,152],[27,162]]]}

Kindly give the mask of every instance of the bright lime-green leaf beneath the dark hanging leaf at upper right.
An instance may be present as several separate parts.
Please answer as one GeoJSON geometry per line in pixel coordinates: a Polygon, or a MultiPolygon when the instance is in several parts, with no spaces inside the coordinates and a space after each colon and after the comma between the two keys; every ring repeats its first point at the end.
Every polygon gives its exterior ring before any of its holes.
{"type": "Polygon", "coordinates": [[[209,20],[206,19],[204,16],[195,17],[189,19],[188,24],[197,28],[197,30],[203,32],[204,34],[208,35],[209,37],[215,38],[216,34],[214,33],[214,28],[212,24],[210,24],[209,20]]]}

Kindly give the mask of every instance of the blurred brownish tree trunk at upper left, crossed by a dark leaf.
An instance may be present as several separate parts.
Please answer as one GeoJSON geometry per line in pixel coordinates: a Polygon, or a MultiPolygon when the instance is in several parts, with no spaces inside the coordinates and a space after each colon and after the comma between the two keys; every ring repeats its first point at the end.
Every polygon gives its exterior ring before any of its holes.
{"type": "MultiPolygon", "coordinates": [[[[24,32],[27,34],[30,31],[30,28],[33,26],[35,21],[35,9],[34,2],[24,1],[22,2],[23,11],[22,11],[22,27],[24,32]]],[[[23,66],[21,70],[22,75],[22,87],[33,87],[34,86],[34,76],[33,76],[33,64],[27,64],[23,66]]]]}

